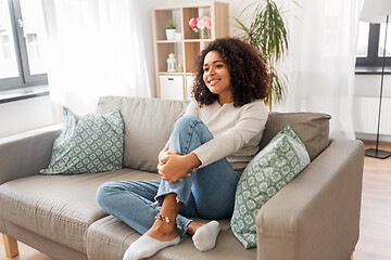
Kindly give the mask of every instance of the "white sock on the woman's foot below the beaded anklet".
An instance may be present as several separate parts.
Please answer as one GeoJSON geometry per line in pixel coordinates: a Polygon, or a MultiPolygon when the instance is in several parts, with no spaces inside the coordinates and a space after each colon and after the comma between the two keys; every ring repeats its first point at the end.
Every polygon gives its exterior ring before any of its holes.
{"type": "Polygon", "coordinates": [[[129,246],[125,251],[123,260],[148,258],[166,247],[175,246],[179,243],[179,236],[168,242],[160,242],[144,234],[129,246]]]}

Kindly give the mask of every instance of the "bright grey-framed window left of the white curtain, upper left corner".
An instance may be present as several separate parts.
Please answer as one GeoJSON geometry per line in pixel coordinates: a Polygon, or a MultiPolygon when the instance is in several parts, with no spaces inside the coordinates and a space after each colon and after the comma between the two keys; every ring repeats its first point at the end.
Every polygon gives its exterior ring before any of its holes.
{"type": "Polygon", "coordinates": [[[0,90],[47,84],[40,0],[0,0],[0,90]]]}

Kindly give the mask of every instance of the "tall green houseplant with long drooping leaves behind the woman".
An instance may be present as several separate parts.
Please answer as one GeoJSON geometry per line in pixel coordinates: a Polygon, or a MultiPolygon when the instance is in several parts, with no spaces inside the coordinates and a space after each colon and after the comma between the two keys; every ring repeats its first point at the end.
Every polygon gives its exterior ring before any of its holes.
{"type": "MultiPolygon", "coordinates": [[[[245,9],[242,13],[244,11],[245,9]]],[[[268,62],[270,83],[265,103],[272,112],[273,102],[282,101],[288,82],[286,75],[276,69],[277,62],[283,57],[289,47],[286,20],[273,0],[260,0],[249,27],[238,18],[236,21],[243,31],[243,39],[260,50],[268,62]]]]}

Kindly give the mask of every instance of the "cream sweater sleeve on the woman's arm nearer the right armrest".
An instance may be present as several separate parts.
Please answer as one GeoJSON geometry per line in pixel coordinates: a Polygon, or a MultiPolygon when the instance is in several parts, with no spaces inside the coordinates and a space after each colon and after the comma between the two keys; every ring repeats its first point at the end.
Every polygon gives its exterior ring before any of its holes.
{"type": "Polygon", "coordinates": [[[232,128],[192,151],[201,160],[200,168],[240,151],[265,128],[267,116],[264,106],[247,107],[232,128]]]}

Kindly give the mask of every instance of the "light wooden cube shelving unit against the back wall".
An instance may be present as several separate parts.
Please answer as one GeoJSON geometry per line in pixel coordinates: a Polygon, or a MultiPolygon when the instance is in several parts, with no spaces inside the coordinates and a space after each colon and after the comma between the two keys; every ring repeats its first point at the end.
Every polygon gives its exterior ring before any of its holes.
{"type": "Polygon", "coordinates": [[[228,3],[192,2],[159,6],[153,9],[152,17],[157,98],[187,100],[195,57],[214,39],[229,35],[228,3]],[[201,39],[200,34],[190,28],[189,21],[204,15],[211,17],[212,28],[207,31],[209,38],[201,39]],[[166,39],[165,25],[168,21],[176,26],[176,40],[166,39]],[[175,54],[181,72],[167,73],[169,53],[175,54]]]}

